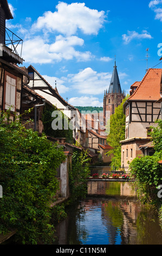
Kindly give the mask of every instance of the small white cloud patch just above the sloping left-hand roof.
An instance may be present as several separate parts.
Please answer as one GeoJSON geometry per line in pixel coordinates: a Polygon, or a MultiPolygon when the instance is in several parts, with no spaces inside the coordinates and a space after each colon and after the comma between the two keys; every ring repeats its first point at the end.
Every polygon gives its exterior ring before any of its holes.
{"type": "Polygon", "coordinates": [[[66,93],[69,91],[69,88],[64,86],[64,84],[63,84],[64,81],[61,80],[60,78],[57,78],[54,76],[51,77],[51,76],[47,76],[47,75],[43,75],[43,77],[53,88],[55,88],[55,83],[56,83],[56,87],[57,87],[59,94],[66,93]]]}

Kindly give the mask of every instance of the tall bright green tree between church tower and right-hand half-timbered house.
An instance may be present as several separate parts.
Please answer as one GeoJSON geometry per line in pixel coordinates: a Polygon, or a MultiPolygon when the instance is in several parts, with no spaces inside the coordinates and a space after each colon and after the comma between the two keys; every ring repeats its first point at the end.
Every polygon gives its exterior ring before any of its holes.
{"type": "Polygon", "coordinates": [[[111,115],[106,126],[106,132],[108,134],[107,143],[113,148],[108,153],[108,155],[113,154],[111,166],[121,166],[120,141],[125,139],[126,121],[123,105],[124,102],[127,100],[127,97],[121,102],[118,107],[115,108],[115,112],[111,115]]]}

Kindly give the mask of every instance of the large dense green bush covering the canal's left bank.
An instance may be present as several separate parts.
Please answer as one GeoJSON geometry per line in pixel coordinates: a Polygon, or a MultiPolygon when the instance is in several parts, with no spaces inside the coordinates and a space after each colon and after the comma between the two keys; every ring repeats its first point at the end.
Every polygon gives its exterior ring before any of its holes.
{"type": "Polygon", "coordinates": [[[12,122],[7,112],[0,118],[0,152],[0,233],[17,230],[20,243],[49,241],[54,237],[50,202],[59,187],[62,149],[44,134],[25,129],[20,119],[12,122]]]}

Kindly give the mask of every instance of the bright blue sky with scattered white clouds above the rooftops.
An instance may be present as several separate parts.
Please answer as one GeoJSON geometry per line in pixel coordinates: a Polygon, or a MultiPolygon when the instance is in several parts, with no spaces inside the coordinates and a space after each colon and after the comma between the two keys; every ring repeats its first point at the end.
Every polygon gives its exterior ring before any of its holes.
{"type": "Polygon", "coordinates": [[[20,66],[56,81],[73,106],[103,106],[115,59],[126,95],[147,67],[162,68],[162,0],[8,3],[14,19],[6,27],[23,39],[20,66]]]}

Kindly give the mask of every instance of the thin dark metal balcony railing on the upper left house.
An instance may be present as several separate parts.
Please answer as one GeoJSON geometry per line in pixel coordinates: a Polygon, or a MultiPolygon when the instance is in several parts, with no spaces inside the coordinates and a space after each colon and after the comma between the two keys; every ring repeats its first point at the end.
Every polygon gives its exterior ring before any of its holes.
{"type": "Polygon", "coordinates": [[[5,33],[5,45],[8,46],[12,50],[12,52],[14,52],[17,56],[21,58],[23,40],[16,34],[11,32],[8,28],[5,28],[5,33]]]}

